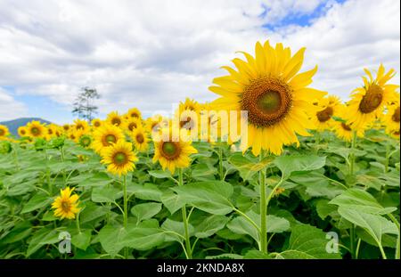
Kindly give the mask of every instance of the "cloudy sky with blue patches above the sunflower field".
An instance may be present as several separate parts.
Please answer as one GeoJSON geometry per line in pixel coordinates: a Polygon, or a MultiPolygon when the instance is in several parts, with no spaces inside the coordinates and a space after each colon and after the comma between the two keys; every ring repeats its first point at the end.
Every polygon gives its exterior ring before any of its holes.
{"type": "Polygon", "coordinates": [[[399,72],[399,26],[399,0],[0,0],[0,121],[69,122],[82,86],[100,117],[210,101],[219,67],[266,39],[306,46],[314,86],[347,100],[364,67],[399,72]]]}

